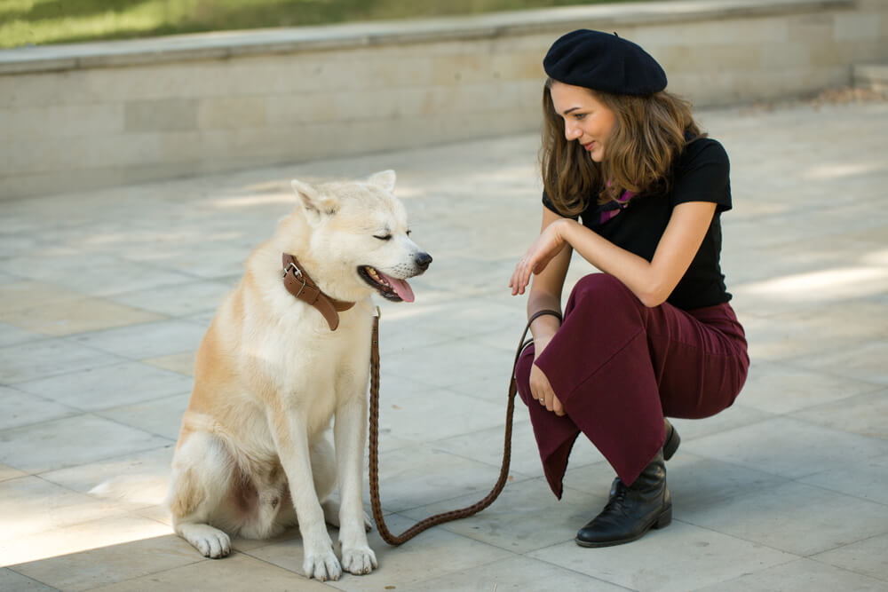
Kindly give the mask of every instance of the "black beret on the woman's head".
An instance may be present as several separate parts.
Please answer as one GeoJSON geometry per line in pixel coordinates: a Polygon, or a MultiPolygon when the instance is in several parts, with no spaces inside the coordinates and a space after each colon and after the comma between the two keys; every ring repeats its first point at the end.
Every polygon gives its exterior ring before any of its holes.
{"type": "Polygon", "coordinates": [[[666,88],[666,73],[637,44],[614,33],[581,28],[559,37],[543,59],[559,83],[623,95],[649,95],[666,88]]]}

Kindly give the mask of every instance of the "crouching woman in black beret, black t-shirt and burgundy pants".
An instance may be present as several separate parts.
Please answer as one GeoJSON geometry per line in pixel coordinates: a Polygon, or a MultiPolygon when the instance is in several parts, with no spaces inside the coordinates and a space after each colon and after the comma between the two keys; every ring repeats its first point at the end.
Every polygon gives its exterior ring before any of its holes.
{"type": "Polygon", "coordinates": [[[510,281],[524,294],[534,276],[534,342],[516,377],[559,498],[581,431],[614,467],[610,500],[576,535],[605,547],[670,523],[664,461],[678,434],[665,417],[717,414],[746,380],[719,267],[729,166],[635,43],[574,31],[543,67],[543,230],[510,281]],[[562,321],[573,251],[602,273],[577,282],[562,321]]]}

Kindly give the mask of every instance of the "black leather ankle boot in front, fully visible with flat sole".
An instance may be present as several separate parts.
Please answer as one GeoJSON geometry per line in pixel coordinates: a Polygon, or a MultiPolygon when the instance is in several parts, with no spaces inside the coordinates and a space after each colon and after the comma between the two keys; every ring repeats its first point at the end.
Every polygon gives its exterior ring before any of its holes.
{"type": "Polygon", "coordinates": [[[610,547],[640,539],[651,528],[672,521],[672,498],[666,486],[662,452],[654,456],[632,485],[614,480],[605,509],[576,533],[581,547],[610,547]]]}

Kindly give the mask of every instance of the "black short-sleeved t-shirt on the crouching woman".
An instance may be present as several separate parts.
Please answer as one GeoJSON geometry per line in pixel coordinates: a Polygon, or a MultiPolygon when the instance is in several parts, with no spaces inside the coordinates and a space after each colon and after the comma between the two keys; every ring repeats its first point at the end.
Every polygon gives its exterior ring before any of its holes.
{"type": "MultiPolygon", "coordinates": [[[[732,207],[729,170],[725,148],[714,139],[698,138],[678,156],[669,193],[632,197],[615,216],[612,210],[619,207],[615,201],[599,205],[597,196],[591,196],[580,218],[593,232],[650,261],[673,208],[686,201],[716,203],[716,213],[694,261],[666,301],[683,310],[722,304],[731,299],[719,265],[720,215],[732,207]]],[[[543,205],[563,216],[544,192],[543,205]]]]}

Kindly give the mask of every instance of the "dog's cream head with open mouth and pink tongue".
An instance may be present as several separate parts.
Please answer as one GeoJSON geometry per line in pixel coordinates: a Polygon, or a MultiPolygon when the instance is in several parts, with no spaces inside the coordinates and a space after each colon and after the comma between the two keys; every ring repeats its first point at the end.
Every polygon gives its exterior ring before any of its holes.
{"type": "Polygon", "coordinates": [[[424,272],[432,257],[410,239],[407,213],[394,197],[395,174],[384,170],[366,181],[311,185],[293,180],[311,229],[307,257],[324,277],[330,296],[354,299],[375,290],[395,302],[413,302],[406,281],[424,272]]]}

